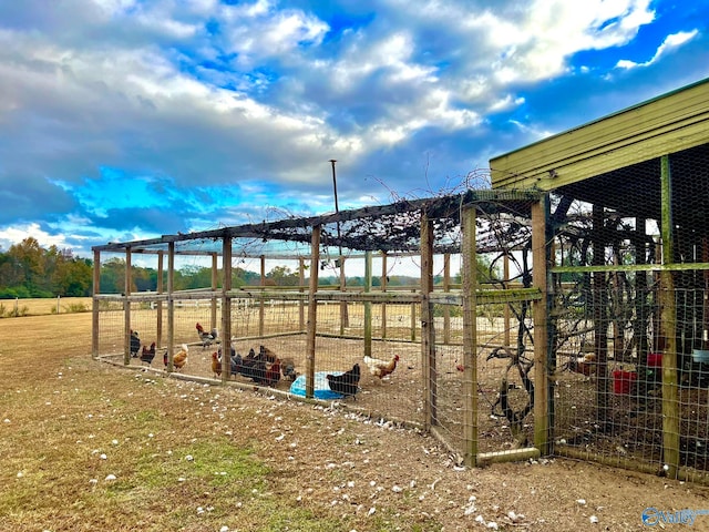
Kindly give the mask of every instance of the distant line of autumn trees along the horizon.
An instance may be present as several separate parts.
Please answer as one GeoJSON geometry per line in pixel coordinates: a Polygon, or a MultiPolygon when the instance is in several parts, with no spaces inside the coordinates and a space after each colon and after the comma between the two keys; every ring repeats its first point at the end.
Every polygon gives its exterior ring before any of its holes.
{"type": "MultiPolygon", "coordinates": [[[[163,272],[163,287],[167,287],[167,273],[163,272]]],[[[157,290],[158,272],[155,268],[132,266],[131,291],[157,290]]],[[[222,276],[219,275],[220,279],[222,276]]],[[[458,276],[460,278],[460,276],[458,276]]],[[[436,279],[436,283],[441,279],[436,279]]],[[[391,276],[388,286],[417,286],[419,279],[409,276],[391,276]]],[[[243,268],[233,268],[232,286],[260,285],[260,274],[243,268]]],[[[300,275],[288,266],[275,266],[266,274],[267,286],[298,286],[300,275]]],[[[339,276],[320,276],[320,285],[339,285],[339,276]]],[[[347,286],[363,286],[362,277],[347,277],[347,286]]],[[[380,278],[372,280],[381,285],[380,278]]],[[[101,264],[100,285],[102,294],[125,293],[125,260],[110,258],[101,264]]],[[[175,272],[174,289],[188,290],[212,286],[212,268],[185,266],[175,272]]],[[[220,287],[220,284],[218,285],[220,287]]],[[[71,249],[56,246],[43,248],[34,237],[12,245],[7,252],[0,249],[0,299],[41,297],[88,297],[93,294],[93,260],[75,256],[71,249]]]]}

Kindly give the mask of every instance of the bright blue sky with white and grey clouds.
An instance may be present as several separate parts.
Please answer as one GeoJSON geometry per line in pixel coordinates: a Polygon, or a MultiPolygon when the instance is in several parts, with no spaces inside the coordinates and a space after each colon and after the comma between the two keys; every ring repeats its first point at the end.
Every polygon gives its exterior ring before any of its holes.
{"type": "Polygon", "coordinates": [[[0,249],[484,186],[709,76],[709,1],[0,1],[0,249]]]}

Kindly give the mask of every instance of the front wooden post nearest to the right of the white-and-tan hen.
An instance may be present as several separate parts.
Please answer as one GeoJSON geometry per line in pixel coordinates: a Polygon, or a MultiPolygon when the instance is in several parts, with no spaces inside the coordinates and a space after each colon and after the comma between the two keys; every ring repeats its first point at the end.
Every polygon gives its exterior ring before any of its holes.
{"type": "Polygon", "coordinates": [[[431,308],[433,291],[433,222],[421,215],[421,368],[423,368],[423,426],[438,424],[435,329],[431,308]]]}

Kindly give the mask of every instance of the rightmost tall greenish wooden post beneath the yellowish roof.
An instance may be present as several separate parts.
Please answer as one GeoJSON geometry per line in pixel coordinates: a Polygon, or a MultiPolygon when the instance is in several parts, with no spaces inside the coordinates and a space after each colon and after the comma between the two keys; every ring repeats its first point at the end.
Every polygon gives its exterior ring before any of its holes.
{"type": "MultiPolygon", "coordinates": [[[[662,219],[662,265],[675,263],[672,237],[672,177],[669,155],[660,158],[660,191],[662,219]]],[[[677,307],[675,303],[675,279],[668,269],[660,272],[660,319],[667,342],[662,352],[662,457],[667,475],[677,477],[679,469],[679,391],[677,386],[677,307]]]]}

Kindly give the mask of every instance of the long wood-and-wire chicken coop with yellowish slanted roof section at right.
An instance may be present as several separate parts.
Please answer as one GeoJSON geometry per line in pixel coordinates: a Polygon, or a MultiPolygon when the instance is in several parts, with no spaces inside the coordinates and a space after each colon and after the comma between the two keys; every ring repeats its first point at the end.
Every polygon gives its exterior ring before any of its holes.
{"type": "Polygon", "coordinates": [[[564,456],[706,480],[708,156],[706,80],[491,160],[492,190],[96,246],[93,356],[336,398],[469,466],[564,456]],[[124,291],[104,294],[116,256],[124,291]],[[156,290],[135,289],[136,257],[156,290]],[[390,284],[407,260],[417,282],[390,284]],[[206,286],[175,289],[195,264],[206,286]],[[243,264],[258,283],[233,285],[243,264]],[[269,285],[268,265],[298,283],[269,285]],[[242,369],[260,352],[276,381],[242,369]]]}

